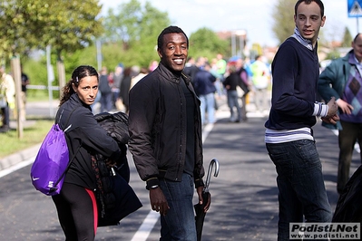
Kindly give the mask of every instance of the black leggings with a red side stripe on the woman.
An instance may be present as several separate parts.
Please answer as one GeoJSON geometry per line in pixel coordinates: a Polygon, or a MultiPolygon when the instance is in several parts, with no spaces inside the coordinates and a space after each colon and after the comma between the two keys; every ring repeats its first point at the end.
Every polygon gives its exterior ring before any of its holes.
{"type": "Polygon", "coordinates": [[[93,191],[64,183],[61,193],[52,198],[65,240],[94,240],[98,226],[98,211],[93,191]]]}

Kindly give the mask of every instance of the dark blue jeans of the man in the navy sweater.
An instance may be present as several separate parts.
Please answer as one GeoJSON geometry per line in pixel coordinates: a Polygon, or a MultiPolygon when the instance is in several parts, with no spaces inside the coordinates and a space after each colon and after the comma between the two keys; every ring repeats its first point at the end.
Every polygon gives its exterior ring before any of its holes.
{"type": "Polygon", "coordinates": [[[279,188],[278,240],[289,240],[289,223],[328,223],[332,213],[322,164],[313,140],[266,144],[279,188]]]}

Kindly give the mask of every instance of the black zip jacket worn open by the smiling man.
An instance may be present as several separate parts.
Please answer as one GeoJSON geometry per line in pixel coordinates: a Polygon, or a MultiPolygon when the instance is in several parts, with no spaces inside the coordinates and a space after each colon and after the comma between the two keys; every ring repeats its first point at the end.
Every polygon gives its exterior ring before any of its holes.
{"type": "Polygon", "coordinates": [[[186,100],[181,82],[186,83],[197,104],[193,178],[196,188],[203,185],[200,100],[189,76],[178,76],[160,63],[130,92],[129,149],[148,188],[157,185],[158,178],[181,181],[186,153],[186,100]]]}

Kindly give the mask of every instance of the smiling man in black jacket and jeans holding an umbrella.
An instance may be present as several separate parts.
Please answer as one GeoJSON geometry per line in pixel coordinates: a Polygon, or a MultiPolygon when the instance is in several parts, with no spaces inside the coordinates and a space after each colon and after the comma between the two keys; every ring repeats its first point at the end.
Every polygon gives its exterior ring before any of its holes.
{"type": "Polygon", "coordinates": [[[130,92],[129,149],[151,208],[161,214],[160,240],[195,241],[192,197],[195,187],[203,201],[204,169],[201,102],[182,72],[189,40],[181,28],[169,26],[157,45],[159,66],[130,92]]]}

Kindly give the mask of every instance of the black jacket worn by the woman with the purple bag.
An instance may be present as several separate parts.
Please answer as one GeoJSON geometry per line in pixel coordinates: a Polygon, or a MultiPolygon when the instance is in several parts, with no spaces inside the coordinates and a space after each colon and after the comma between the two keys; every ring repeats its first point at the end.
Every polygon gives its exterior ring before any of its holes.
{"type": "Polygon", "coordinates": [[[55,122],[59,123],[62,130],[66,130],[69,159],[75,155],[64,182],[95,190],[91,154],[99,153],[104,157],[119,159],[121,150],[117,142],[107,135],[95,120],[90,106],[84,104],[75,93],[59,107],[55,122]]]}

